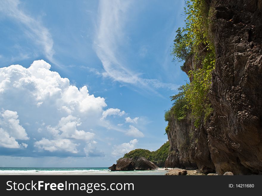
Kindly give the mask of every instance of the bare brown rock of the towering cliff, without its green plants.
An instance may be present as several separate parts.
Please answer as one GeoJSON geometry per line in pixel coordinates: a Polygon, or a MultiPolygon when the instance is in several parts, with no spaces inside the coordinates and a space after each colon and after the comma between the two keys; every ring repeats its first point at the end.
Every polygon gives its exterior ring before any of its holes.
{"type": "MultiPolygon", "coordinates": [[[[190,112],[183,120],[172,116],[165,166],[221,175],[261,174],[262,0],[205,3],[214,12],[209,33],[216,64],[208,92],[213,112],[207,119],[202,116],[197,127],[190,112]]],[[[190,58],[183,68],[187,74],[199,67],[190,58]]]]}

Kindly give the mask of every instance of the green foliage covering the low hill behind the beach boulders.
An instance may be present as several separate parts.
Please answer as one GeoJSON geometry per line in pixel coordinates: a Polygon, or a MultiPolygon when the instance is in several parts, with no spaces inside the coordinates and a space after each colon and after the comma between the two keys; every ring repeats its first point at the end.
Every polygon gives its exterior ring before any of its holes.
{"type": "Polygon", "coordinates": [[[152,161],[159,167],[164,167],[166,158],[169,154],[169,142],[164,143],[158,150],[156,151],[149,151],[146,149],[135,149],[126,153],[123,158],[134,158],[138,156],[142,156],[149,161],[152,161]]]}

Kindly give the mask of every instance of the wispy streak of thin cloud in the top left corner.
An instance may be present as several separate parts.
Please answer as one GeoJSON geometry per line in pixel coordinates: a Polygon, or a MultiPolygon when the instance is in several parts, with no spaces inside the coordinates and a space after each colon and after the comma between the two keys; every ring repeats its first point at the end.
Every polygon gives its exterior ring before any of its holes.
{"type": "Polygon", "coordinates": [[[23,24],[25,26],[24,33],[32,39],[34,43],[43,47],[44,55],[51,62],[54,62],[53,40],[49,30],[44,27],[39,20],[29,16],[27,11],[22,10],[19,4],[19,0],[2,0],[0,1],[0,12],[15,19],[19,24],[23,24]]]}

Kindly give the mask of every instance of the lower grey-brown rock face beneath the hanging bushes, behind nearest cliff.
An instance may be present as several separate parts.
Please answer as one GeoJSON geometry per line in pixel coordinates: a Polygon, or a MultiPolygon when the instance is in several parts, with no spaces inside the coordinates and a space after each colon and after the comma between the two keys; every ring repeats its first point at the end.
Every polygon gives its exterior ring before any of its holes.
{"type": "Polygon", "coordinates": [[[210,157],[205,127],[195,128],[189,118],[181,121],[172,118],[169,127],[168,139],[171,151],[166,159],[165,167],[198,169],[198,172],[201,173],[215,171],[210,157]]]}

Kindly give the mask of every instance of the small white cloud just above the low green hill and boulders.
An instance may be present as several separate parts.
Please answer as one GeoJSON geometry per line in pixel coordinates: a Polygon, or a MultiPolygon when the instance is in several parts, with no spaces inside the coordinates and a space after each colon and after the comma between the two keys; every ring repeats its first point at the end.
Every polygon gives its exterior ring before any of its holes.
{"type": "Polygon", "coordinates": [[[138,143],[138,140],[133,139],[128,143],[114,145],[112,155],[113,156],[124,156],[124,153],[128,153],[131,150],[134,150],[137,143],[138,143]]]}

